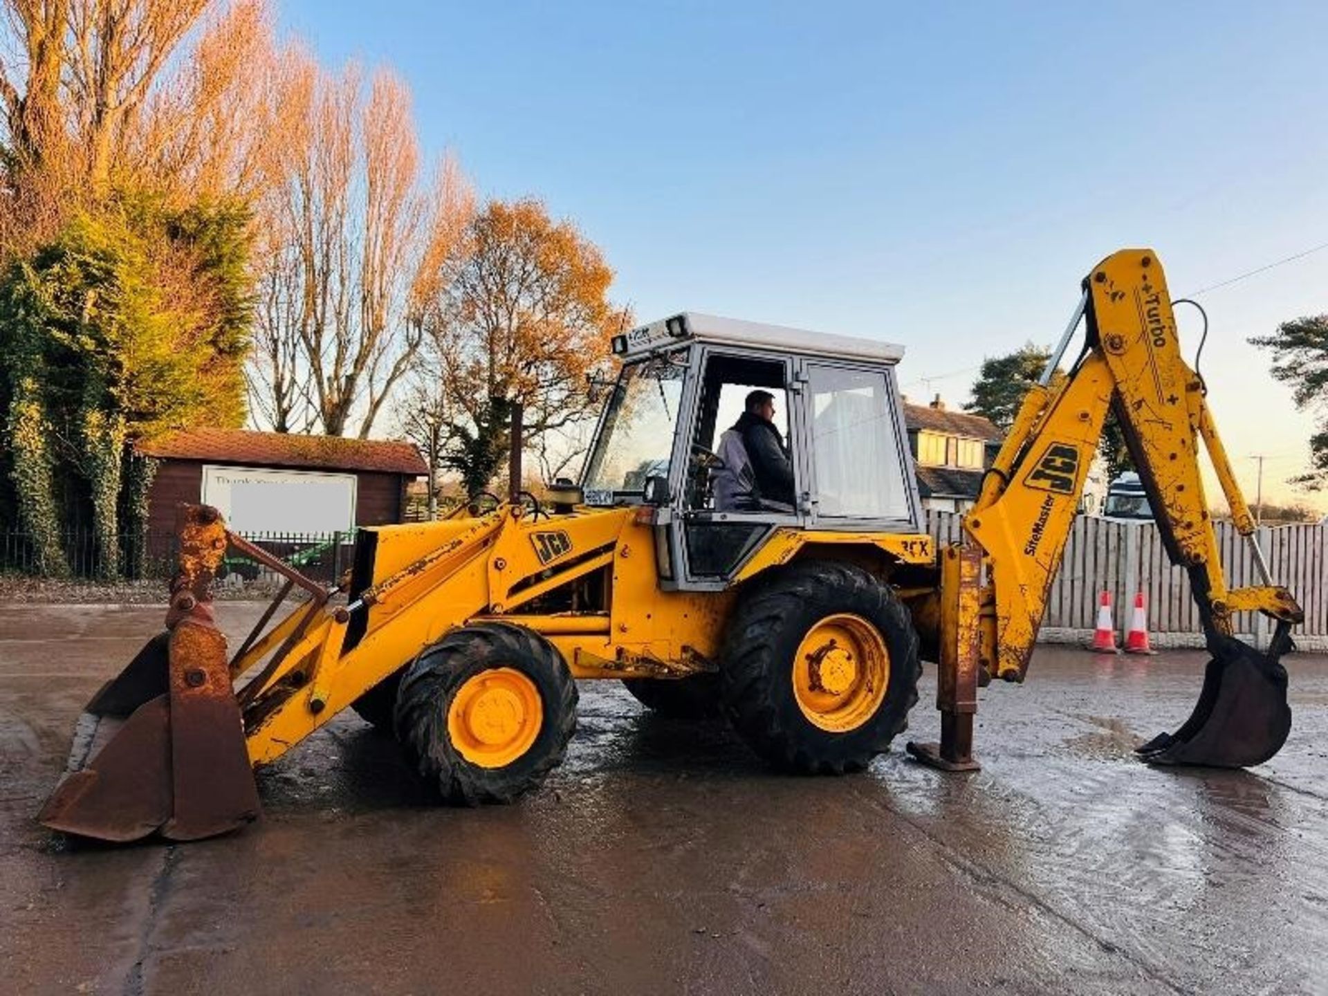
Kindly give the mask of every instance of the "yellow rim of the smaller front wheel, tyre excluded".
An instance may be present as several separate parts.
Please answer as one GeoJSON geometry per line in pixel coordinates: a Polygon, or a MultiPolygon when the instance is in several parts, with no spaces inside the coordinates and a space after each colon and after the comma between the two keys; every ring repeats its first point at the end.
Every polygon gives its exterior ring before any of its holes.
{"type": "Polygon", "coordinates": [[[448,736],[473,765],[502,768],[530,750],[544,709],[535,683],[514,668],[466,679],[448,706],[448,736]]]}

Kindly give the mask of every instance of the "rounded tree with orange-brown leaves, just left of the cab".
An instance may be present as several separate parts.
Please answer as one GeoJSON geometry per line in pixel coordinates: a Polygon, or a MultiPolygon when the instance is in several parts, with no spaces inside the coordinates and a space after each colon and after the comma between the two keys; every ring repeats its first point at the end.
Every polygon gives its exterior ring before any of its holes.
{"type": "Polygon", "coordinates": [[[514,404],[537,452],[592,416],[587,374],[629,316],[608,300],[614,272],[599,248],[533,199],[489,202],[446,272],[432,319],[446,462],[473,494],[502,467],[514,404]]]}

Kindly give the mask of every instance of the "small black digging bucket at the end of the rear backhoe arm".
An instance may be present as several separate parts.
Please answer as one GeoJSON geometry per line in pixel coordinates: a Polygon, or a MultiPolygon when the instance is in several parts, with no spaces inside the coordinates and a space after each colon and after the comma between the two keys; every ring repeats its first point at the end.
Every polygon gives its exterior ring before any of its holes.
{"type": "Polygon", "coordinates": [[[1276,754],[1291,733],[1287,669],[1278,661],[1284,640],[1279,627],[1267,655],[1231,637],[1210,641],[1214,656],[1190,718],[1135,753],[1154,765],[1206,768],[1248,768],[1276,754]]]}

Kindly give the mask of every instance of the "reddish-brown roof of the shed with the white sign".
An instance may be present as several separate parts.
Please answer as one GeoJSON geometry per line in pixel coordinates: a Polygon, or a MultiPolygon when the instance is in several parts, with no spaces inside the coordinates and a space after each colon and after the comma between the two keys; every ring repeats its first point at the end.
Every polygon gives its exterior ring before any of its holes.
{"type": "Polygon", "coordinates": [[[206,459],[246,466],[428,473],[412,444],[400,440],[347,440],[340,436],[258,433],[246,429],[187,429],[138,440],[134,452],[166,459],[206,459]]]}

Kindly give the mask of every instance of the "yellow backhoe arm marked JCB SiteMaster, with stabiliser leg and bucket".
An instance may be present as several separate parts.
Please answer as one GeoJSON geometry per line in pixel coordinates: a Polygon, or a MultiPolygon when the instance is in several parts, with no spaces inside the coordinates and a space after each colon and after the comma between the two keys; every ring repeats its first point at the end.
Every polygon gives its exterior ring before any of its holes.
{"type": "MultiPolygon", "coordinates": [[[[1220,676],[1206,680],[1201,708],[1191,721],[1198,720],[1197,726],[1203,726],[1219,705],[1239,713],[1232,722],[1282,724],[1286,673],[1278,656],[1287,645],[1289,625],[1301,622],[1303,612],[1284,587],[1272,583],[1254,542],[1254,517],[1236,486],[1204,398],[1203,381],[1181,357],[1162,266],[1150,250],[1123,250],[1085,278],[1080,304],[1041,382],[1024,397],[987,471],[979,499],[963,519],[967,542],[943,552],[938,704],[946,729],[951,730],[951,744],[947,750],[943,737],[938,757],[923,760],[943,761],[948,754],[951,766],[971,762],[979,681],[1024,680],[1109,409],[1122,426],[1167,554],[1189,572],[1207,648],[1222,665],[1218,669],[1244,661],[1274,685],[1282,683],[1279,708],[1278,701],[1218,703],[1220,676]],[[1064,382],[1053,388],[1052,372],[1081,320],[1086,327],[1082,352],[1064,382]],[[1228,586],[1199,473],[1201,442],[1212,461],[1235,526],[1251,543],[1260,586],[1228,586]],[[1232,616],[1240,611],[1259,611],[1276,620],[1276,635],[1267,653],[1259,655],[1235,639],[1232,616]],[[1204,714],[1199,716],[1201,712],[1204,714]]],[[[1289,726],[1289,710],[1286,724],[1289,726]]],[[[1220,738],[1215,730],[1207,733],[1220,738]]],[[[1230,757],[1208,750],[1202,757],[1182,760],[1254,764],[1258,761],[1250,758],[1270,746],[1276,753],[1286,738],[1282,732],[1278,740],[1276,729],[1263,734],[1246,732],[1246,736],[1260,742],[1230,757]],[[1275,746],[1272,740],[1278,741],[1275,746]]],[[[920,746],[915,754],[919,752],[920,746]]]]}

